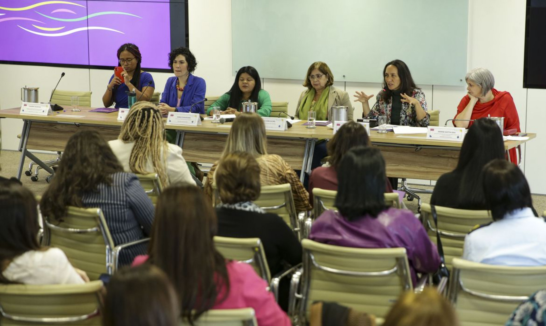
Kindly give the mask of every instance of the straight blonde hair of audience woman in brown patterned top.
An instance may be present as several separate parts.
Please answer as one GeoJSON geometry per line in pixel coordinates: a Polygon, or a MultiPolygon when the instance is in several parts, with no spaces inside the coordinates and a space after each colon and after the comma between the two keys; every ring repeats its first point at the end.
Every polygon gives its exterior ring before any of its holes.
{"type": "Polygon", "coordinates": [[[267,154],[267,138],[262,117],[256,113],[239,114],[229,131],[222,159],[230,153],[245,152],[254,158],[267,154]]]}

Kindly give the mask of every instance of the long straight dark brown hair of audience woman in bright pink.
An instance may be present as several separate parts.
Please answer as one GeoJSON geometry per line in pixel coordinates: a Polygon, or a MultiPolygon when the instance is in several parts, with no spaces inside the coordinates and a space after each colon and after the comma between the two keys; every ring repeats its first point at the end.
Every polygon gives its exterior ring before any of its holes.
{"type": "Polygon", "coordinates": [[[159,196],[149,261],[173,283],[190,324],[229,293],[225,259],[212,240],[217,228],[215,210],[196,186],[173,185],[159,196]]]}

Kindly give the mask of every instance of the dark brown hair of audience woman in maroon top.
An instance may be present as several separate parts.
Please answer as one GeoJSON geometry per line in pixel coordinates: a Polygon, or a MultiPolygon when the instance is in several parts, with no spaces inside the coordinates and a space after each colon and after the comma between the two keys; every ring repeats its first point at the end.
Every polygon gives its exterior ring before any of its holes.
{"type": "Polygon", "coordinates": [[[363,125],[349,121],[341,126],[327,144],[330,165],[337,167],[343,155],[356,146],[370,146],[370,137],[363,125]]]}

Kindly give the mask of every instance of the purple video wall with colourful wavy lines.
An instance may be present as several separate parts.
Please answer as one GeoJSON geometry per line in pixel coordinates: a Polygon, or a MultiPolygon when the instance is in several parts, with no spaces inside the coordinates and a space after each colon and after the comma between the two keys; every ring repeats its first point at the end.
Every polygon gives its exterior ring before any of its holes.
{"type": "Polygon", "coordinates": [[[186,45],[186,31],[171,31],[171,8],[169,0],[0,0],[0,61],[111,68],[118,47],[134,43],[141,67],[168,69],[171,33],[186,45]]]}

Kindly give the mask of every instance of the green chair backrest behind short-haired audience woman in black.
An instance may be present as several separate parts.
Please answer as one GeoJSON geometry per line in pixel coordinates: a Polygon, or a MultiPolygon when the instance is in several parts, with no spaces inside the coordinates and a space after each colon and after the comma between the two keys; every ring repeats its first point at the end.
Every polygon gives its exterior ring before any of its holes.
{"type": "Polygon", "coordinates": [[[234,261],[252,265],[256,273],[266,282],[271,281],[271,273],[262,240],[259,238],[214,237],[214,245],[222,256],[234,261]]]}

